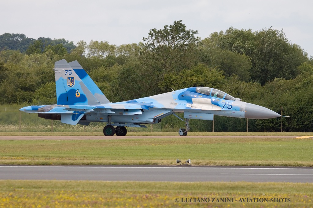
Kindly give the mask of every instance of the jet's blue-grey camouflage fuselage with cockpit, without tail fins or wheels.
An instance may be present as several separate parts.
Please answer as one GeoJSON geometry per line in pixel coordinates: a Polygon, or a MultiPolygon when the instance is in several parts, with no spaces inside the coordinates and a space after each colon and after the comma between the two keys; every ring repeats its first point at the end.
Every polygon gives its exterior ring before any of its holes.
{"type": "MultiPolygon", "coordinates": [[[[79,103],[77,103],[79,106],[79,103]]],[[[41,113],[46,119],[60,119],[58,113],[72,113],[69,105],[28,106],[21,110],[41,113]],[[49,116],[49,113],[52,114],[49,116]]],[[[83,107],[82,107],[83,108],[83,107]]],[[[184,118],[212,120],[210,115],[248,119],[280,117],[276,112],[259,105],[234,98],[220,90],[208,87],[191,87],[150,97],[117,103],[93,105],[90,109],[74,111],[85,115],[81,122],[158,123],[173,113],[184,113],[184,118]],[[127,110],[126,110],[127,109],[127,110]]]]}

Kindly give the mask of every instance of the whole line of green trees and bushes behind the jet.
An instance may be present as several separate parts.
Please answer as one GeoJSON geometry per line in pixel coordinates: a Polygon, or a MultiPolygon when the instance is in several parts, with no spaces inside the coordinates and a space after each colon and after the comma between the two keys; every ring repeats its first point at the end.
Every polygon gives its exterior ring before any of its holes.
{"type": "MultiPolygon", "coordinates": [[[[107,41],[74,45],[64,39],[28,40],[23,34],[5,33],[0,36],[0,103],[55,104],[52,68],[55,61],[66,59],[77,60],[111,102],[172,89],[213,87],[278,113],[282,106],[283,114],[291,116],[282,118],[284,131],[313,131],[313,60],[291,44],[284,31],[231,27],[204,39],[197,35],[181,20],[151,29],[140,43],[121,46],[107,41]],[[14,36],[20,42],[14,42],[14,36]]],[[[215,131],[246,129],[246,119],[215,119],[215,131]]],[[[251,119],[249,131],[280,131],[280,121],[251,119]]],[[[194,131],[212,130],[212,121],[191,124],[194,131]]],[[[169,116],[162,125],[183,124],[169,116]]]]}

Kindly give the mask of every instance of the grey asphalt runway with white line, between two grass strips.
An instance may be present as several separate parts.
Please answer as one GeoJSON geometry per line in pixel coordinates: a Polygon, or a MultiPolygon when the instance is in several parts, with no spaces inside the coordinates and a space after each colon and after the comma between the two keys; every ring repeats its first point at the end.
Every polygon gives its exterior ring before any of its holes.
{"type": "Polygon", "coordinates": [[[0,166],[0,180],[313,182],[313,168],[242,166],[0,166]]]}

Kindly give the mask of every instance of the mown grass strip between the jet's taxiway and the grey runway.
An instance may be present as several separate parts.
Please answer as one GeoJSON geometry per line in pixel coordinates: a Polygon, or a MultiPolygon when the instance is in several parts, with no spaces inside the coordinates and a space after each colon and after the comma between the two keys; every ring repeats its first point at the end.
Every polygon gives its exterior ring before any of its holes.
{"type": "Polygon", "coordinates": [[[1,164],[313,166],[312,139],[3,140],[1,164]]]}

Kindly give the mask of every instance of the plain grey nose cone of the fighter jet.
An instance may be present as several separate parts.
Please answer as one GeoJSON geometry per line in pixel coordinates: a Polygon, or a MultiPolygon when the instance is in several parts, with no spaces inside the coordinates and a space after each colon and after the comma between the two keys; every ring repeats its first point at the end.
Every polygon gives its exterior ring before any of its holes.
{"type": "Polygon", "coordinates": [[[247,103],[244,118],[246,119],[272,119],[280,117],[280,114],[259,105],[247,103]]]}

